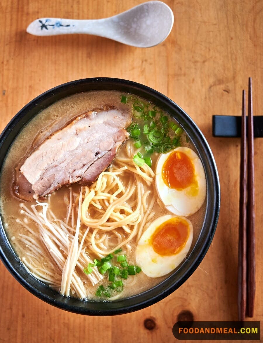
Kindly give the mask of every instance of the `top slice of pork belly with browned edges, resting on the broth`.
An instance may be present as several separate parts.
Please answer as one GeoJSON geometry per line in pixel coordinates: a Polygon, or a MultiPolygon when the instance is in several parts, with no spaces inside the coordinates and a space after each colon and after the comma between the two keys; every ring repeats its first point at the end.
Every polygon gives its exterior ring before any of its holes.
{"type": "Polygon", "coordinates": [[[83,113],[39,145],[20,173],[32,185],[35,197],[74,182],[89,185],[113,161],[130,122],[128,113],[113,107],[83,113]]]}

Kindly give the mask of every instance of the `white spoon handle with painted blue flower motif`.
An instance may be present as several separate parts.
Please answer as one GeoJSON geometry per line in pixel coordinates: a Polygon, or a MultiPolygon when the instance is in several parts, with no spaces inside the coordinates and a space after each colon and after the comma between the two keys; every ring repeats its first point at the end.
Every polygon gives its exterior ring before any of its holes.
{"type": "Polygon", "coordinates": [[[61,18],[39,18],[28,25],[26,31],[35,36],[54,36],[73,33],[108,37],[111,31],[106,19],[74,20],[61,18]],[[107,29],[106,29],[107,27],[107,29]]]}

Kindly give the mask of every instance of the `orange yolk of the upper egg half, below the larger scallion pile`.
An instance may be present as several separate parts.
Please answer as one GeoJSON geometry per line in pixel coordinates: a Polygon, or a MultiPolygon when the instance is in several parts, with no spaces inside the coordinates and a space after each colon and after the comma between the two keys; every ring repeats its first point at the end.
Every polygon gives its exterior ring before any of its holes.
{"type": "Polygon", "coordinates": [[[195,183],[195,169],[191,159],[183,152],[172,152],[162,167],[162,179],[166,186],[177,190],[195,183]]]}

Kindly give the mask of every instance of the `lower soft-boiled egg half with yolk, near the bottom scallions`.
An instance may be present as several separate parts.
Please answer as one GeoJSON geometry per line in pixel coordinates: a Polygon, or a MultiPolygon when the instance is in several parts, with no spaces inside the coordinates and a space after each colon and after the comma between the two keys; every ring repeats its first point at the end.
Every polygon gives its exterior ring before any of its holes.
{"type": "Polygon", "coordinates": [[[193,225],[187,218],[162,216],[153,221],[140,238],[136,263],[147,276],[166,275],[185,259],[192,240],[193,225]]]}

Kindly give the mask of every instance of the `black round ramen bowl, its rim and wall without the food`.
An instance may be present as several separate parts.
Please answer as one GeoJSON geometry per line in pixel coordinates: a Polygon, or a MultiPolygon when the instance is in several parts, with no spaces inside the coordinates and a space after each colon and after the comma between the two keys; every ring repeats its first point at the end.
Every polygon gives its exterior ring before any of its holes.
{"type": "MultiPolygon", "coordinates": [[[[67,298],[53,291],[49,286],[36,280],[17,257],[3,228],[4,218],[0,220],[0,257],[6,268],[29,292],[58,308],[84,315],[118,315],[142,309],[171,294],[180,287],[195,271],[205,256],[218,222],[220,208],[220,187],[218,172],[210,147],[193,120],[165,95],[139,83],[113,78],[90,78],[68,82],[39,95],[9,122],[0,136],[0,168],[8,150],[19,131],[45,108],[57,100],[80,92],[92,90],[116,90],[143,97],[174,117],[187,132],[199,152],[205,169],[207,181],[206,214],[198,239],[188,258],[157,286],[141,294],[115,301],[82,301],[67,298]]],[[[1,172],[1,169],[0,169],[1,172]]]]}

